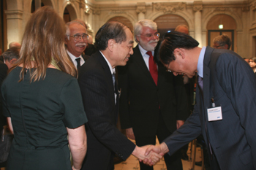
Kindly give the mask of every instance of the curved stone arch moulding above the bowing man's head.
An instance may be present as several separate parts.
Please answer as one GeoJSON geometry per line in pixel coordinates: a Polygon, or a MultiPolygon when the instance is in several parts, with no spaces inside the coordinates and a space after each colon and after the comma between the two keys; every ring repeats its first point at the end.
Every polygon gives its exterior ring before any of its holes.
{"type": "Polygon", "coordinates": [[[159,12],[154,12],[151,15],[149,15],[148,19],[149,20],[155,20],[155,19],[159,18],[162,15],[168,15],[168,14],[178,15],[178,16],[184,18],[184,20],[186,20],[187,23],[189,24],[189,33],[194,32],[194,21],[190,19],[191,17],[189,15],[189,13],[187,13],[187,12],[176,11],[176,12],[172,12],[172,13],[170,13],[170,12],[165,13],[165,12],[159,11],[159,12]]]}

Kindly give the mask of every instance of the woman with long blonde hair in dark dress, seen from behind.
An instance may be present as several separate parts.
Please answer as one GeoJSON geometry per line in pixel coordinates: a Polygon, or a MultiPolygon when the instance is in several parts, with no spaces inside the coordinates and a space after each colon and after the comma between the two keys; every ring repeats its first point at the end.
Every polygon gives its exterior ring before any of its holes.
{"type": "Polygon", "coordinates": [[[81,168],[87,117],[77,71],[64,48],[65,32],[64,20],[51,7],[37,9],[26,25],[20,59],[1,86],[14,134],[8,170],[81,168]]]}

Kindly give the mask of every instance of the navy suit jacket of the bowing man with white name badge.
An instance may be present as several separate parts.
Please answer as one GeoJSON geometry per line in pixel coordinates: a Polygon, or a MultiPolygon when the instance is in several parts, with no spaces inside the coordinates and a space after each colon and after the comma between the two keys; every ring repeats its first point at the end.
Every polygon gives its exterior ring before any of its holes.
{"type": "Polygon", "coordinates": [[[202,133],[221,169],[256,169],[256,79],[248,63],[230,50],[207,47],[203,98],[198,87],[196,93],[192,115],[165,139],[170,154],[202,133]],[[211,98],[222,107],[222,120],[208,121],[211,98]]]}

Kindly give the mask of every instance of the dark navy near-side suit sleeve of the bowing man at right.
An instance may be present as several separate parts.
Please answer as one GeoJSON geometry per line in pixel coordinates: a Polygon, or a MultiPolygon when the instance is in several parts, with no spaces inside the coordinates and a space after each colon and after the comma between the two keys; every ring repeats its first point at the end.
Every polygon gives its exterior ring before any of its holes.
{"type": "Polygon", "coordinates": [[[219,55],[217,79],[236,110],[256,167],[256,79],[244,59],[228,53],[219,55]]]}

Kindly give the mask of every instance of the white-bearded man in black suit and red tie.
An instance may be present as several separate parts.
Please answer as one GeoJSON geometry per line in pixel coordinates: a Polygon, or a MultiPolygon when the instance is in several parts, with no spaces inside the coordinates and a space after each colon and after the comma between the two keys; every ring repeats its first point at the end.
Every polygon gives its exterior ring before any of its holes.
{"type": "MultiPolygon", "coordinates": [[[[159,40],[157,23],[140,20],[135,24],[134,48],[127,66],[118,68],[121,90],[120,120],[127,137],[138,146],[155,144],[183,125],[187,115],[187,98],[182,77],[166,72],[162,63],[154,61],[159,40]]],[[[182,169],[181,153],[165,156],[167,169],[182,169]]],[[[140,163],[140,169],[153,169],[140,163]]]]}

